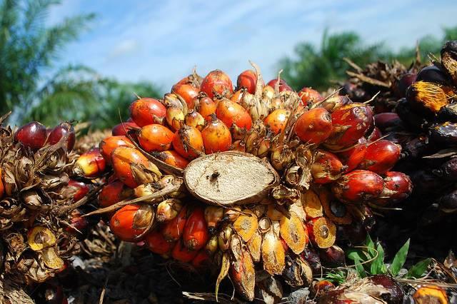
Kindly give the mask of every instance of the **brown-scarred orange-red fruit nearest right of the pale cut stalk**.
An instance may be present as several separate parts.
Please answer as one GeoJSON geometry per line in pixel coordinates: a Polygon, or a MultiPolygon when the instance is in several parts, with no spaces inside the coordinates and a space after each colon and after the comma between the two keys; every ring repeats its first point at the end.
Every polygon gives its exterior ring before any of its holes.
{"type": "Polygon", "coordinates": [[[346,168],[335,154],[318,150],[311,165],[311,175],[314,183],[331,183],[340,178],[346,168]]]}

